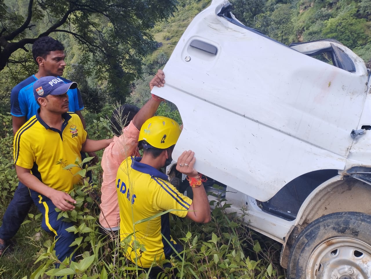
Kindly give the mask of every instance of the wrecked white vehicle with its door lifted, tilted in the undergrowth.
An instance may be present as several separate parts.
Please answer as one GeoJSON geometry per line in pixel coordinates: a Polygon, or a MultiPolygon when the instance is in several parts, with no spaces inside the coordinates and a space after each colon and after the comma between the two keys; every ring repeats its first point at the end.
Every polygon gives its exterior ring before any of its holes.
{"type": "Polygon", "coordinates": [[[230,211],[283,244],[288,278],[371,278],[370,72],[335,40],[288,47],[230,7],[194,18],[153,91],[184,124],[173,158],[195,152],[230,211]]]}

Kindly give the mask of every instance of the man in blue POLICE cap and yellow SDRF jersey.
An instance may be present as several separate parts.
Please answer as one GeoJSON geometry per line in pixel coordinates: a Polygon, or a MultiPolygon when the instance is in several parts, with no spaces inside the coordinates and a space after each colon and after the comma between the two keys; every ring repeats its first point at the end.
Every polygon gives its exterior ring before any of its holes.
{"type": "Polygon", "coordinates": [[[30,189],[31,197],[43,214],[42,228],[55,236],[58,259],[74,260],[75,234],[66,231],[72,223],[57,220],[60,210],[73,210],[76,201],[69,196],[74,184],[81,182],[75,175],[78,167],[63,170],[56,163],[62,159],[66,165],[81,160],[80,151],[95,152],[107,147],[112,139],[94,141],[86,138],[79,116],[67,112],[67,91],[77,87],[76,82],[64,83],[55,76],[38,79],[33,85],[33,95],[40,105],[14,136],[14,163],[19,180],[30,189]]]}

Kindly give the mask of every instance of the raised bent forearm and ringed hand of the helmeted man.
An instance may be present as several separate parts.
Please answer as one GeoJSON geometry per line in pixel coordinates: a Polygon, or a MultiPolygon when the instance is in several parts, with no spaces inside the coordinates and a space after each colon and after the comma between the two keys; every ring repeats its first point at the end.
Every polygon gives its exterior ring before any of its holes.
{"type": "MultiPolygon", "coordinates": [[[[177,170],[181,173],[187,175],[189,178],[196,178],[198,181],[198,172],[194,169],[194,163],[196,158],[194,157],[194,152],[191,150],[184,151],[178,158],[177,170]]],[[[208,223],[211,220],[210,213],[210,203],[207,198],[207,194],[200,180],[200,186],[192,187],[193,191],[193,200],[187,217],[192,219],[197,223],[208,223]]]]}

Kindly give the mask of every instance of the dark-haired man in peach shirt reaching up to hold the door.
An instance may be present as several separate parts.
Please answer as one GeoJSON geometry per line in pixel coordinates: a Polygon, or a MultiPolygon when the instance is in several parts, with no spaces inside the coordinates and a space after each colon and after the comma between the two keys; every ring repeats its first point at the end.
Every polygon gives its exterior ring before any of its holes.
{"type": "MultiPolygon", "coordinates": [[[[165,75],[158,70],[150,82],[150,89],[161,87],[165,83],[165,75]]],[[[152,94],[151,99],[138,111],[136,106],[122,105],[113,113],[111,122],[116,135],[114,141],[104,150],[102,157],[103,183],[101,187],[101,214],[99,222],[106,233],[116,233],[120,224],[120,209],[116,193],[117,170],[127,157],[138,156],[139,130],[143,123],[151,118],[164,99],[152,94]],[[121,134],[121,127],[122,129],[121,134]],[[120,135],[121,134],[121,135],[120,135]]],[[[113,235],[113,234],[112,234],[113,235]]]]}

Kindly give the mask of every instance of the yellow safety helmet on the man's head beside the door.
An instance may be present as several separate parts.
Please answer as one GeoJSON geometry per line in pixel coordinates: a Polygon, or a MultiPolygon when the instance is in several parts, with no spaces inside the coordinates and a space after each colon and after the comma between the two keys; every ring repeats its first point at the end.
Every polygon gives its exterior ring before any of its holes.
{"type": "MultiPolygon", "coordinates": [[[[166,149],[177,143],[180,126],[173,119],[164,116],[153,116],[144,122],[139,132],[138,141],[146,141],[154,148],[166,149]]],[[[145,143],[144,148],[151,148],[145,143]]]]}

